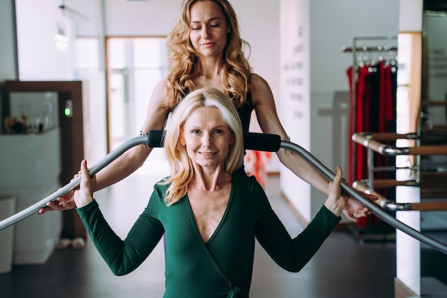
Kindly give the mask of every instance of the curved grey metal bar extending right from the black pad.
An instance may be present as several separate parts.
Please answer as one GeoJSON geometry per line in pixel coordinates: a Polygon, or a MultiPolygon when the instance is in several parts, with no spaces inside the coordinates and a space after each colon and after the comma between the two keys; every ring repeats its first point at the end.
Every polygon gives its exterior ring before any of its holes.
{"type": "MultiPolygon", "coordinates": [[[[298,153],[298,155],[301,155],[302,158],[304,158],[305,160],[308,161],[308,163],[313,165],[313,167],[316,168],[316,170],[318,170],[318,172],[320,172],[328,180],[333,180],[335,178],[335,174],[331,170],[326,168],[326,166],[323,165],[323,163],[321,163],[317,158],[311,155],[311,153],[301,148],[300,146],[294,143],[290,143],[286,140],[281,140],[281,148],[287,148],[293,150],[294,152],[298,153]]],[[[341,183],[341,189],[343,190],[343,192],[346,192],[346,194],[351,196],[353,199],[357,200],[365,207],[368,207],[368,209],[371,210],[371,212],[373,212],[374,215],[376,215],[384,222],[388,223],[389,225],[395,227],[398,230],[401,230],[402,232],[415,238],[416,240],[419,240],[425,243],[426,245],[431,246],[436,250],[443,252],[444,254],[447,254],[447,245],[444,245],[443,243],[438,242],[437,240],[434,240],[433,238],[428,237],[427,235],[423,235],[421,232],[418,232],[412,227],[409,227],[403,222],[391,217],[391,215],[383,211],[381,207],[378,207],[374,202],[371,202],[370,200],[367,200],[366,198],[362,197],[360,193],[356,192],[356,190],[353,190],[345,182],[341,183]]]]}

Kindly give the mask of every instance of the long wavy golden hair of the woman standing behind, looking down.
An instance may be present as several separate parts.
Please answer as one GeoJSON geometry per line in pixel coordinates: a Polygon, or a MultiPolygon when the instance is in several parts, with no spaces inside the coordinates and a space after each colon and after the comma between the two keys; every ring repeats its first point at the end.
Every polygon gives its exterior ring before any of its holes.
{"type": "Polygon", "coordinates": [[[166,86],[166,102],[164,106],[174,108],[189,91],[194,91],[193,78],[199,75],[201,65],[198,53],[189,39],[190,10],[197,1],[212,1],[218,4],[224,13],[229,32],[222,57],[221,73],[224,81],[225,94],[232,96],[233,104],[238,107],[246,101],[250,90],[251,66],[245,57],[244,48],[250,49],[238,29],[236,13],[227,0],[184,0],[181,4],[174,28],[167,38],[169,49],[169,75],[166,86]]]}

